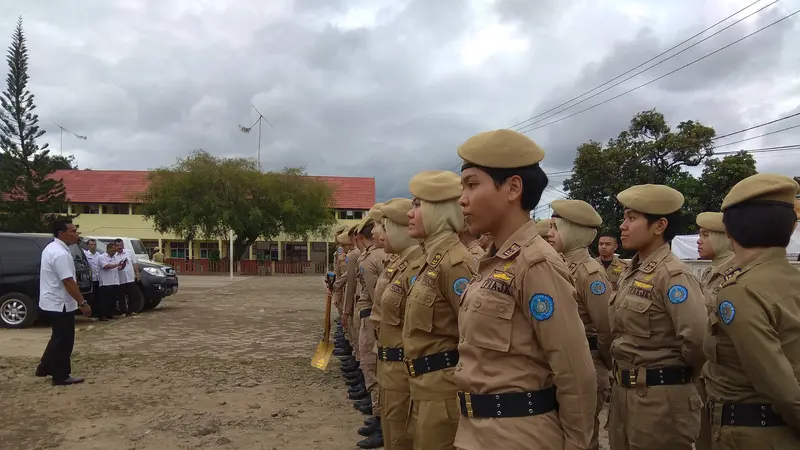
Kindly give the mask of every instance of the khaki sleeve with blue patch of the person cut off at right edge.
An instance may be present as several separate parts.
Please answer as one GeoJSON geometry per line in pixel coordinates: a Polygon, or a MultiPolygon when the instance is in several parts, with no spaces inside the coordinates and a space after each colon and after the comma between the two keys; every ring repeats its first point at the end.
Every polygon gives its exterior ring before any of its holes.
{"type": "Polygon", "coordinates": [[[719,292],[717,312],[720,329],[746,361],[742,368],[747,379],[790,427],[800,429],[800,385],[778,340],[773,311],[755,292],[731,284],[719,292]]]}

